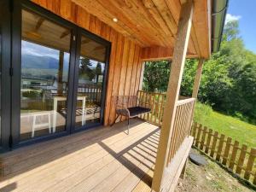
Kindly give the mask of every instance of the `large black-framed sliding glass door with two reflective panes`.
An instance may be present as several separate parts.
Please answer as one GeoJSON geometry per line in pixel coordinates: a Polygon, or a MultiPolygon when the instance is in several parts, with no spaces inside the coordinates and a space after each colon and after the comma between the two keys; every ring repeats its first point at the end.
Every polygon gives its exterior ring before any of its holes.
{"type": "Polygon", "coordinates": [[[11,145],[101,125],[110,43],[30,1],[15,3],[11,145]]]}

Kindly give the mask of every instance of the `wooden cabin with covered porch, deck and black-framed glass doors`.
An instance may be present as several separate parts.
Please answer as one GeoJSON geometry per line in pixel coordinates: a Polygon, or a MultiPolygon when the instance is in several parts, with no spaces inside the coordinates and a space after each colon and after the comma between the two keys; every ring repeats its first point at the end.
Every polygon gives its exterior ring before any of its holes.
{"type": "Polygon", "coordinates": [[[185,171],[203,61],[227,1],[2,0],[0,191],[173,191],[185,171]],[[197,58],[191,98],[184,61],[197,58]],[[144,61],[172,60],[166,94],[144,61]],[[150,113],[115,125],[113,96],[150,113]]]}

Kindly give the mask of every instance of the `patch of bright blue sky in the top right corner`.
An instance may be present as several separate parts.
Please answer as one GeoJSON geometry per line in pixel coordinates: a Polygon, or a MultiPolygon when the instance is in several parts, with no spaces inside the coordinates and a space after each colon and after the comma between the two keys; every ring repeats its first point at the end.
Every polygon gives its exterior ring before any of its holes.
{"type": "Polygon", "coordinates": [[[239,20],[241,38],[256,54],[256,0],[230,0],[227,20],[239,20]]]}

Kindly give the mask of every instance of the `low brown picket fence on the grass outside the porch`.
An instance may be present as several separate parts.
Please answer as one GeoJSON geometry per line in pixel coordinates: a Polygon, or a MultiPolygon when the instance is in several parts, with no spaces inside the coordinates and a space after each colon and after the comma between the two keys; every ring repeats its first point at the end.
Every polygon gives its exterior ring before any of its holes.
{"type": "Polygon", "coordinates": [[[195,148],[199,148],[231,172],[256,184],[256,148],[248,148],[245,144],[232,141],[232,138],[197,123],[192,125],[191,135],[195,137],[195,148]]]}

